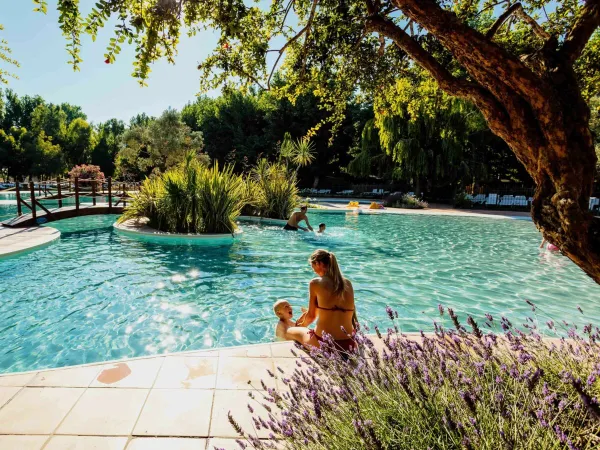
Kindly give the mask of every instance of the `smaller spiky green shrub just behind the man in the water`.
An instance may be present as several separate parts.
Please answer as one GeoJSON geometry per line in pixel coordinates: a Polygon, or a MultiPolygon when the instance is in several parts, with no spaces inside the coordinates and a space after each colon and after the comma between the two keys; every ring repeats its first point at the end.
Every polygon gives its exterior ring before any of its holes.
{"type": "Polygon", "coordinates": [[[261,159],[250,176],[256,183],[256,197],[250,200],[256,212],[270,219],[287,219],[298,205],[296,174],[282,163],[261,159]]]}

